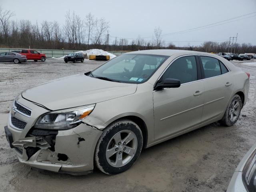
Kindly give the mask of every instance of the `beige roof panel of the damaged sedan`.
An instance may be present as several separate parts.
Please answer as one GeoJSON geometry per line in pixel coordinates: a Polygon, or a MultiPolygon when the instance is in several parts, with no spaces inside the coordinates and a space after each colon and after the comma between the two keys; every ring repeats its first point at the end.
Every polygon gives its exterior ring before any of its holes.
{"type": "Polygon", "coordinates": [[[142,50],[142,51],[133,51],[128,54],[154,54],[154,55],[166,55],[172,56],[174,54],[205,54],[205,55],[213,55],[211,53],[199,52],[199,51],[189,51],[189,50],[177,50],[177,49],[154,49],[154,50],[142,50]]]}

